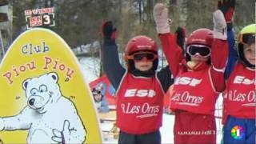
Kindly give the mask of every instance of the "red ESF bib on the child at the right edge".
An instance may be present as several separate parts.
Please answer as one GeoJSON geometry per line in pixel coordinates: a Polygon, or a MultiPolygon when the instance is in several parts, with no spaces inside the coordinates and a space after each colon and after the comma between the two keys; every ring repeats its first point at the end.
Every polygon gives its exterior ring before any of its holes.
{"type": "Polygon", "coordinates": [[[242,63],[234,67],[226,84],[224,114],[237,118],[256,118],[255,70],[242,63]]]}

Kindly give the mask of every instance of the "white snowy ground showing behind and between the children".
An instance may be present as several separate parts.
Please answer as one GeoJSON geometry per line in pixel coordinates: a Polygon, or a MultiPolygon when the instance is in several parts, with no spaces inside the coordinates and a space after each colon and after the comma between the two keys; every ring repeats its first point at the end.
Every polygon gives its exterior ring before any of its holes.
{"type": "MultiPolygon", "coordinates": [[[[81,64],[82,72],[86,78],[86,82],[92,82],[98,78],[98,59],[97,58],[78,58],[81,64]]],[[[218,102],[216,103],[215,116],[222,117],[222,96],[219,96],[218,102]]],[[[220,118],[216,118],[217,126],[217,143],[221,143],[222,140],[222,122],[220,118]]],[[[102,130],[110,129],[112,124],[102,124],[102,130]]],[[[163,122],[161,127],[162,143],[174,143],[174,115],[163,114],[163,122]]],[[[114,139],[113,136],[107,136],[103,138],[104,143],[117,143],[118,140],[114,139]]]]}

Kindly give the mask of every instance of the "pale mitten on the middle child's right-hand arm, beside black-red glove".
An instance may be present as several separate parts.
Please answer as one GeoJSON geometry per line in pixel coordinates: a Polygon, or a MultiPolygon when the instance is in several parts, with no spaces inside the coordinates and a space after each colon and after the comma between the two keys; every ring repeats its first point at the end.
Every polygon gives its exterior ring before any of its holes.
{"type": "Polygon", "coordinates": [[[214,38],[226,40],[226,20],[221,10],[214,11],[214,38]]]}

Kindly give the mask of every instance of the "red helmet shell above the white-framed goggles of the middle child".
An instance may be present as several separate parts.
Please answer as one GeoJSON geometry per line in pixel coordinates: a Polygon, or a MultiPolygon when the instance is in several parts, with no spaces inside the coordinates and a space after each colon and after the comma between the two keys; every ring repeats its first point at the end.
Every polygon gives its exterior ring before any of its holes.
{"type": "Polygon", "coordinates": [[[194,30],[186,41],[186,47],[190,45],[205,45],[211,47],[213,32],[209,29],[194,30]]]}

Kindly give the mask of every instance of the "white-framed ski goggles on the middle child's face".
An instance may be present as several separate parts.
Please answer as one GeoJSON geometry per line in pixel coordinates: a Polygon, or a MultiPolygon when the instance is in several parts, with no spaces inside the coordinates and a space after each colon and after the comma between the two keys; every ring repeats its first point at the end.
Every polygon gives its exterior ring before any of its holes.
{"type": "Polygon", "coordinates": [[[202,45],[190,45],[186,49],[186,53],[189,54],[190,56],[201,56],[202,58],[207,58],[210,56],[210,47],[208,46],[202,46],[202,45]]]}

